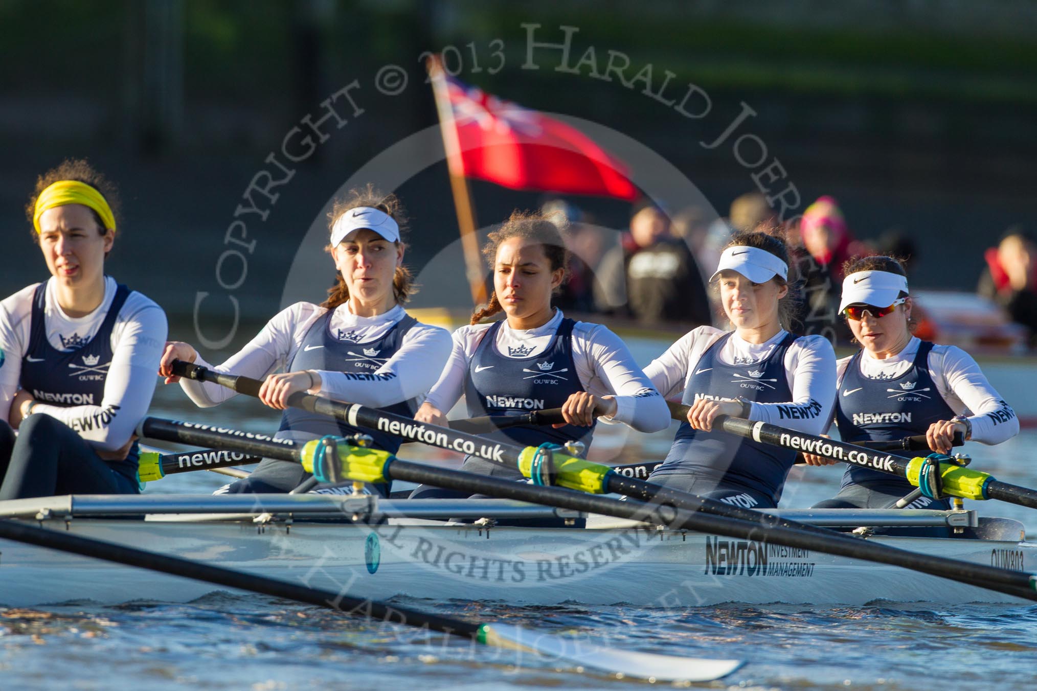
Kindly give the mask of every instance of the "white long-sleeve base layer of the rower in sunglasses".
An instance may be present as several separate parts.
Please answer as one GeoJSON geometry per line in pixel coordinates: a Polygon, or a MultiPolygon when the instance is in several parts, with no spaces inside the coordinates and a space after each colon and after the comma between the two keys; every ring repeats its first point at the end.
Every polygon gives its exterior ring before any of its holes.
{"type": "MultiPolygon", "coordinates": [[[[861,355],[861,374],[869,379],[895,379],[910,368],[920,345],[921,339],[914,337],[903,350],[885,359],[872,357],[865,350],[861,355]]],[[[852,355],[838,363],[839,385],[851,359],[852,355]]],[[[1015,411],[986,380],[972,355],[957,346],[934,345],[927,365],[929,376],[947,405],[972,423],[973,441],[996,444],[1019,433],[1015,411]]]]}

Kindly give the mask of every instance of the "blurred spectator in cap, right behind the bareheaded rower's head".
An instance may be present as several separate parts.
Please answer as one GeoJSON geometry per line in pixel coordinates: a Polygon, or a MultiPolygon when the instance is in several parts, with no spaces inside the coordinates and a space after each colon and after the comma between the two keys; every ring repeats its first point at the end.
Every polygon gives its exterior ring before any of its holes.
{"type": "Polygon", "coordinates": [[[601,231],[583,209],[564,199],[549,199],[540,211],[562,230],[569,249],[569,280],[553,303],[566,313],[594,312],[594,266],[601,260],[601,231]]]}

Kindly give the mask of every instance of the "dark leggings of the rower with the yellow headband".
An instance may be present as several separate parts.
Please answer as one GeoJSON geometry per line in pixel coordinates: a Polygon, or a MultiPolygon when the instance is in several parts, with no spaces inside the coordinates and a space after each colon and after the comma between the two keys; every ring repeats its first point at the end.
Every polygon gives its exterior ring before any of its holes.
{"type": "Polygon", "coordinates": [[[64,423],[29,415],[17,440],[0,423],[0,500],[58,494],[137,494],[140,486],[103,460],[64,423]]]}

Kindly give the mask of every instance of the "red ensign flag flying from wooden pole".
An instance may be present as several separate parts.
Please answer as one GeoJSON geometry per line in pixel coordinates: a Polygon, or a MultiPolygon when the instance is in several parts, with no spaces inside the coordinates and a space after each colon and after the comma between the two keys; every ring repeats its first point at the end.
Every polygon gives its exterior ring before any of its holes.
{"type": "MultiPolygon", "coordinates": [[[[512,190],[636,199],[626,166],[579,129],[442,75],[451,173],[512,190]]],[[[442,98],[443,91],[438,95],[442,98]]]]}

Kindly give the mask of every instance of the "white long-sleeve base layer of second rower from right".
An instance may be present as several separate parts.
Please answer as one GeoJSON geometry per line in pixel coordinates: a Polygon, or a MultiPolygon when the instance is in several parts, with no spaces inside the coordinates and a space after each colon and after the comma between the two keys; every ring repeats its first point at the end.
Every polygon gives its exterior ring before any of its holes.
{"type": "MultiPolygon", "coordinates": [[[[645,374],[666,398],[682,396],[702,354],[725,333],[712,326],[689,332],[652,361],[645,374]]],[[[755,365],[766,359],[786,335],[781,330],[766,342],[755,344],[732,334],[719,353],[720,359],[727,365],[755,365]]],[[[820,434],[828,428],[835,404],[836,354],[832,344],[820,336],[800,337],[785,351],[784,364],[792,400],[753,403],[749,419],[820,434]],[[798,408],[795,418],[782,415],[781,408],[787,410],[788,406],[798,408]]]]}

